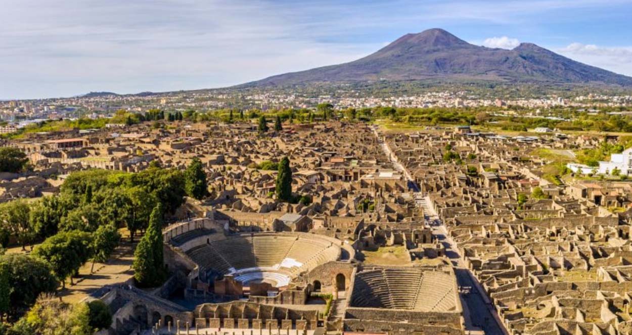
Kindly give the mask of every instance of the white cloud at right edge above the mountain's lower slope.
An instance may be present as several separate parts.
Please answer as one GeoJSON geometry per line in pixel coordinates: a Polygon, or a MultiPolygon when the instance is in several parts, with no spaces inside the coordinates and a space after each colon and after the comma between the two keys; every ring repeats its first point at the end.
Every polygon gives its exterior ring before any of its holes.
{"type": "Polygon", "coordinates": [[[632,47],[600,47],[574,42],[556,52],[581,63],[632,76],[632,47]]]}

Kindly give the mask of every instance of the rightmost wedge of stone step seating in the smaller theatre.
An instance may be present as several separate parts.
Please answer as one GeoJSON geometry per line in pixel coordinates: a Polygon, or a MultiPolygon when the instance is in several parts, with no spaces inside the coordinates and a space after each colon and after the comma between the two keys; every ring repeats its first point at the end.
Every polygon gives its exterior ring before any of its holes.
{"type": "Polygon", "coordinates": [[[456,307],[454,279],[443,272],[427,272],[422,280],[416,309],[446,311],[456,307]]]}

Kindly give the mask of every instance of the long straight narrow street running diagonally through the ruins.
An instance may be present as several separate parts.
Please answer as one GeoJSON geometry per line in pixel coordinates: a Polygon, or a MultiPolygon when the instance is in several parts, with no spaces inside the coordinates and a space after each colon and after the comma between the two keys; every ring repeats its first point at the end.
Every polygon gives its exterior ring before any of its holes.
{"type": "Polygon", "coordinates": [[[432,228],[432,234],[441,241],[442,245],[446,248],[446,256],[453,264],[456,281],[459,288],[461,288],[459,295],[461,296],[461,303],[463,305],[463,317],[465,318],[466,332],[474,334],[484,331],[487,335],[507,335],[508,333],[498,317],[498,314],[495,312],[494,307],[490,303],[489,297],[487,297],[481,284],[478,283],[478,280],[470,269],[466,267],[465,262],[461,259],[461,255],[459,255],[456,243],[449,237],[446,226],[444,226],[441,219],[439,219],[437,212],[435,212],[434,208],[430,205],[430,197],[427,195],[424,196],[420,192],[418,186],[414,183],[410,172],[398,162],[396,155],[392,153],[392,150],[386,141],[382,141],[382,138],[377,131],[377,126],[374,126],[373,131],[375,137],[377,137],[378,141],[382,145],[384,154],[389,157],[395,169],[401,171],[404,176],[406,176],[409,187],[410,185],[414,186],[410,188],[415,191],[413,193],[415,203],[422,207],[425,220],[432,228]]]}

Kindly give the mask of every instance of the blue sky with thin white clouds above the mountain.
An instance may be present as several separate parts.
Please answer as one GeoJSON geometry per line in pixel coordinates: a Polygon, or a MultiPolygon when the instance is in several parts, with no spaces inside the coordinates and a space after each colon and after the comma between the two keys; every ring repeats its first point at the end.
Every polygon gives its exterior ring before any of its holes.
{"type": "Polygon", "coordinates": [[[632,76],[632,0],[0,0],[0,98],[235,85],[410,32],[533,42],[632,76]]]}

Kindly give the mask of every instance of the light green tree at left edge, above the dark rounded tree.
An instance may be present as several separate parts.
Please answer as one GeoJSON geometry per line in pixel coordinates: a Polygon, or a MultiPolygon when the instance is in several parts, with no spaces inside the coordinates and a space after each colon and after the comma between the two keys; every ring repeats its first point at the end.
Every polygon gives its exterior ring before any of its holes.
{"type": "Polygon", "coordinates": [[[31,243],[35,233],[29,222],[30,206],[26,200],[13,200],[0,204],[0,225],[9,233],[13,234],[26,250],[28,243],[31,243]]]}

